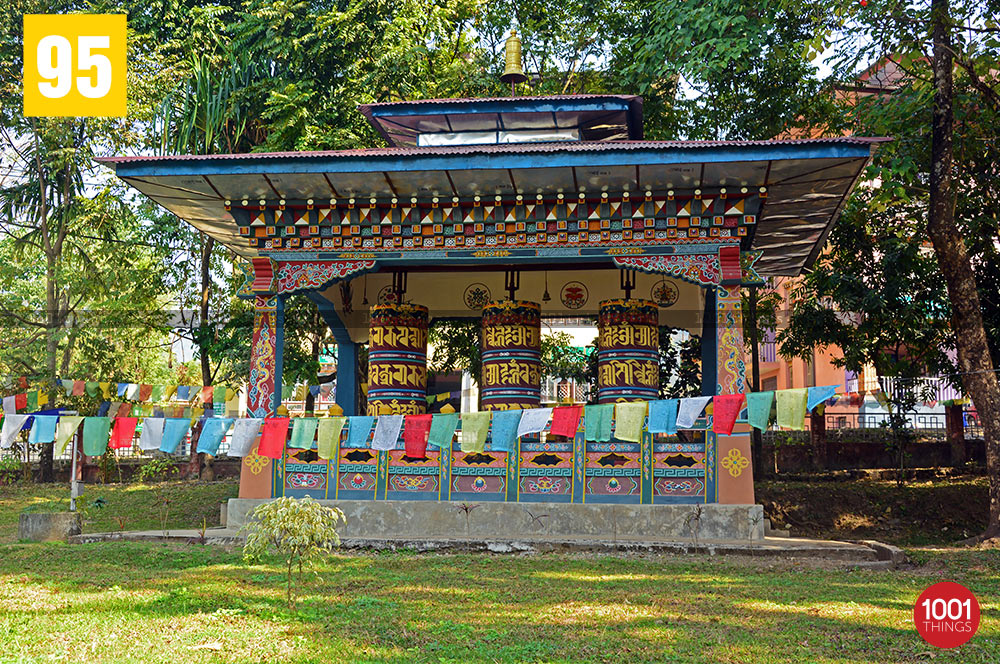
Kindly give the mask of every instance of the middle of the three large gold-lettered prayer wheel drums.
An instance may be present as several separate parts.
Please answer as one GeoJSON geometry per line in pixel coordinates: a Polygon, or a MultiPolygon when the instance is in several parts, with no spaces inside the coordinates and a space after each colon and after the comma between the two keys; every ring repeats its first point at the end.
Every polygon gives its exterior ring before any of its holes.
{"type": "Polygon", "coordinates": [[[483,307],[483,410],[537,408],[542,400],[542,307],[490,302],[483,307]]]}

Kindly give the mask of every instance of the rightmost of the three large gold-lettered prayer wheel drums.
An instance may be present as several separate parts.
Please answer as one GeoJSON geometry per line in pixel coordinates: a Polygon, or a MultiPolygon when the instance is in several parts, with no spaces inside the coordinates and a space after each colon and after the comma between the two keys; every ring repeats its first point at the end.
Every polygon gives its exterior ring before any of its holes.
{"type": "Polygon", "coordinates": [[[659,309],[647,300],[605,300],[597,317],[597,402],[660,394],[659,309]]]}

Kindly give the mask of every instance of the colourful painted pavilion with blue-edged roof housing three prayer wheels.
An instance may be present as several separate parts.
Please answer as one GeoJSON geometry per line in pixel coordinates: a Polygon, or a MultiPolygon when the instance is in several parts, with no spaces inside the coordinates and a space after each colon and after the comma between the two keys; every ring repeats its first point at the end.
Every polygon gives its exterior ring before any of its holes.
{"type": "MultiPolygon", "coordinates": [[[[336,399],[347,415],[366,405],[360,345],[371,344],[367,397],[378,408],[369,414],[420,412],[426,321],[487,314],[484,338],[500,344],[491,349],[499,364],[484,372],[491,407],[532,403],[532,326],[547,316],[645,326],[602,328],[609,400],[655,398],[647,342],[656,326],[701,335],[704,395],[746,392],[740,289],[816,259],[884,140],[647,141],[642,100],[625,95],[360,111],[388,147],[105,160],[245,259],[253,415],[280,402],[290,297],[315,301],[335,335],[336,399]]],[[[581,432],[522,439],[511,452],[428,449],[420,459],[401,445],[343,448],[329,461],[312,450],[277,461],[251,454],[240,495],[752,504],[749,427],[740,420],[716,436],[710,420],[639,443],[585,442],[581,432]]]]}

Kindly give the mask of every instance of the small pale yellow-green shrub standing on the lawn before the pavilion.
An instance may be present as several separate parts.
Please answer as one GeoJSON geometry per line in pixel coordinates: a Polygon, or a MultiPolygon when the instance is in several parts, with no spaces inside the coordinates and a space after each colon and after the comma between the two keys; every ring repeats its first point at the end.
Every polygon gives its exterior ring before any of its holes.
{"type": "Polygon", "coordinates": [[[324,507],[312,498],[276,498],[254,509],[241,529],[247,533],[243,558],[254,562],[274,549],[285,559],[286,599],[291,609],[293,569],[298,567],[296,580],[301,584],[303,565],[312,565],[340,544],[337,524],[343,521],[339,509],[324,507]]]}

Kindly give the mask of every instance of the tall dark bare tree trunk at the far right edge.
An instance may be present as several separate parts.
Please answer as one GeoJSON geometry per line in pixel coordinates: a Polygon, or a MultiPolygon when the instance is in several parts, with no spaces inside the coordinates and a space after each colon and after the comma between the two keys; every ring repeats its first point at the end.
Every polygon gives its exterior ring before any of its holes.
{"type": "Polygon", "coordinates": [[[965,239],[955,225],[952,190],[954,95],[948,0],[931,1],[934,40],[934,114],[931,127],[930,209],[927,233],[948,287],[951,324],[966,392],[979,412],[986,438],[990,516],[983,538],[1000,536],[1000,384],[990,357],[982,308],[965,239]]]}

